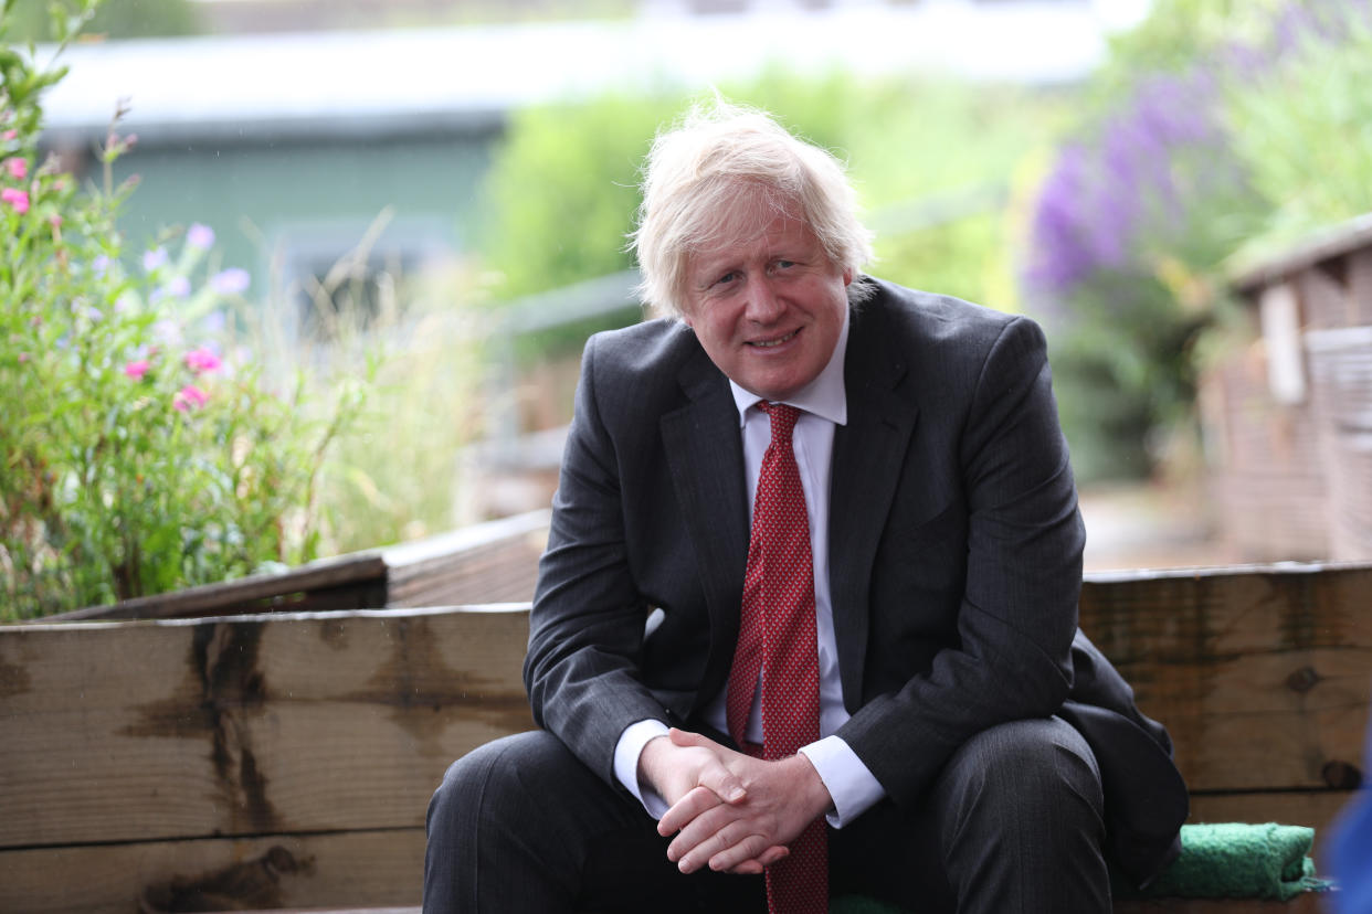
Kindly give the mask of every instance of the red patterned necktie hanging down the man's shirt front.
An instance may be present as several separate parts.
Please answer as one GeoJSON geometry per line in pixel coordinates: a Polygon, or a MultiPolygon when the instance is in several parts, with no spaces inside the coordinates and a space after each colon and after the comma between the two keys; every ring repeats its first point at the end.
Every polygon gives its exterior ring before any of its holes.
{"type": "MultiPolygon", "coordinates": [[[[815,566],[809,519],[790,433],[800,410],[759,403],[771,415],[748,543],[748,571],[738,647],[726,696],[729,734],[745,745],[748,713],[761,673],[764,759],[781,759],[819,739],[819,654],[815,641],[815,566]]],[[[790,855],[767,867],[771,914],[829,910],[829,845],[825,819],[790,843],[790,855]]]]}

